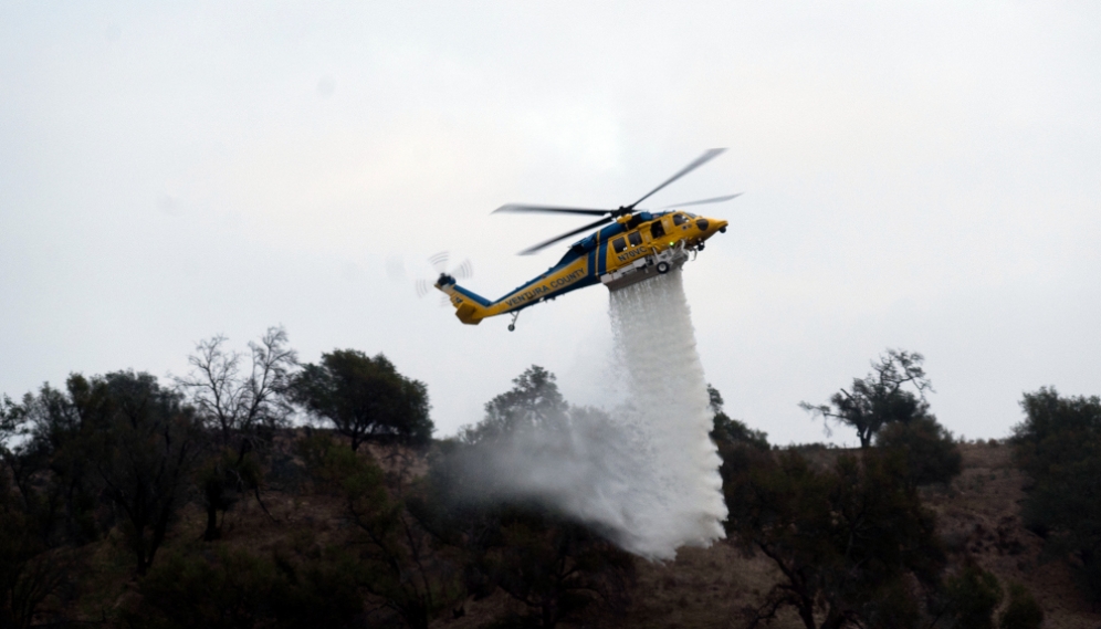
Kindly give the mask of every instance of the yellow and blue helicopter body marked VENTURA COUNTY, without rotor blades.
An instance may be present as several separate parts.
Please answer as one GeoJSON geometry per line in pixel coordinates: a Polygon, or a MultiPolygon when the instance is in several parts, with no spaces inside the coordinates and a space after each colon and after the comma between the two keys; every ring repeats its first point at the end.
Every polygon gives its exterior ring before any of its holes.
{"type": "Polygon", "coordinates": [[[602,283],[615,291],[668,273],[684,264],[688,252],[702,250],[709,238],[725,232],[726,224],[684,211],[637,212],[575,242],[557,264],[495,302],[447,274],[436,287],[448,294],[462,323],[478,325],[585,286],[602,283]]]}

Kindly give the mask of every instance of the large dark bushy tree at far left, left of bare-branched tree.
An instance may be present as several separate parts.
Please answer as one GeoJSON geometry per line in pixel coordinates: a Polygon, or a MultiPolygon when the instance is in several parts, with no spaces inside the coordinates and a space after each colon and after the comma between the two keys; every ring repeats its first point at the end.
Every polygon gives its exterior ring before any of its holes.
{"type": "Polygon", "coordinates": [[[200,451],[200,426],[180,396],[148,374],[73,375],[66,391],[43,386],[9,415],[24,440],[6,460],[50,543],[80,545],[117,523],[144,574],[200,451]]]}

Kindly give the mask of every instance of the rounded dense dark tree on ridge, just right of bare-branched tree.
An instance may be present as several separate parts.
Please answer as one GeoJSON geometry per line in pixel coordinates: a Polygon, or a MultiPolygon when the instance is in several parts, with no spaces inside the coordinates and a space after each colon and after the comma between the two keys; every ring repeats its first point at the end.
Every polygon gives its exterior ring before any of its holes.
{"type": "Polygon", "coordinates": [[[422,445],[432,438],[427,387],[399,374],[381,354],[323,354],[321,364],[307,364],[294,377],[292,394],[350,439],[353,451],[367,440],[422,445]]]}

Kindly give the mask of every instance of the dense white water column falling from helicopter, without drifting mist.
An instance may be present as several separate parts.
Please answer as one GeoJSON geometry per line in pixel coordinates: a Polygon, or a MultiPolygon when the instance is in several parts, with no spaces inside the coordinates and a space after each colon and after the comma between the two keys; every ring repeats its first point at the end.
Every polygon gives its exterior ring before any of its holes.
{"type": "Polygon", "coordinates": [[[723,537],[726,503],[681,271],[612,292],[611,326],[653,483],[633,536],[664,556],[681,545],[707,546],[723,537]]]}

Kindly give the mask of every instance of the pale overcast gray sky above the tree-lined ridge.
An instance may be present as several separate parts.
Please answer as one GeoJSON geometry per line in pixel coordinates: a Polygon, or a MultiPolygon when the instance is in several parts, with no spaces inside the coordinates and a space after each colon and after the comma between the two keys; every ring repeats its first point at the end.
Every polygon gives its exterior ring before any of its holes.
{"type": "Polygon", "coordinates": [[[1095,2],[10,1],[0,95],[13,397],[282,324],[305,360],[386,353],[443,434],[531,364],[599,403],[602,287],[508,333],[413,281],[449,250],[496,298],[580,222],[491,210],[616,207],[713,146],[653,203],[745,192],[685,268],[731,415],[821,440],[797,403],[888,347],[969,438],[1101,392],[1095,2]]]}

